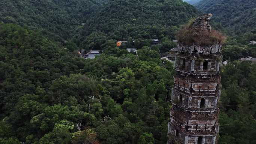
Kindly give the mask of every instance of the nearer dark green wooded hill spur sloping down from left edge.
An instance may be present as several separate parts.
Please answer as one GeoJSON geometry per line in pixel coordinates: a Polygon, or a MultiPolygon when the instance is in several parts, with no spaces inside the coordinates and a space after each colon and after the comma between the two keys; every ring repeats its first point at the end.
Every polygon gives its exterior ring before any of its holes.
{"type": "Polygon", "coordinates": [[[13,24],[0,24],[0,59],[1,110],[12,110],[20,96],[48,89],[52,80],[84,66],[39,33],[13,24]]]}

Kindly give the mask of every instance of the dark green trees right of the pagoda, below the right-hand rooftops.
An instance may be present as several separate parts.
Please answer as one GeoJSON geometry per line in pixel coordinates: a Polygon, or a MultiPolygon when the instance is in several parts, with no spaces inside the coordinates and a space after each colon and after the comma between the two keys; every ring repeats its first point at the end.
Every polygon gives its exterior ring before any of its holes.
{"type": "Polygon", "coordinates": [[[219,144],[256,144],[256,64],[234,61],[221,75],[219,144]]]}

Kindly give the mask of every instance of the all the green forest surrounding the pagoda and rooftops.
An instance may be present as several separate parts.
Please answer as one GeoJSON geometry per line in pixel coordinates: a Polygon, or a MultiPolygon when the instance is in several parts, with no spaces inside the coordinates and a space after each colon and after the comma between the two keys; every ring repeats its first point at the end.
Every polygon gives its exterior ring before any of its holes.
{"type": "MultiPolygon", "coordinates": [[[[256,64],[236,61],[256,57],[248,45],[256,40],[255,3],[227,3],[212,12],[215,28],[231,35],[223,46],[229,64],[221,72],[219,144],[256,144],[256,64]]],[[[1,0],[0,8],[0,144],[166,144],[175,73],[160,52],[176,45],[179,27],[199,15],[195,7],[182,0],[1,0]],[[116,40],[134,43],[118,48],[116,40]],[[79,49],[104,52],[85,60],[79,49]]]]}

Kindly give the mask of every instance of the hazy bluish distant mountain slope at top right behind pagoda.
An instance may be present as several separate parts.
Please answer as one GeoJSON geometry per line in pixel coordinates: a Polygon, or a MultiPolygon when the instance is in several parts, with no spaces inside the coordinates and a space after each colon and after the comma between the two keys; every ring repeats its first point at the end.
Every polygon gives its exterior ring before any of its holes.
{"type": "Polygon", "coordinates": [[[256,0],[202,0],[195,6],[205,13],[213,13],[213,19],[241,34],[256,33],[256,0]]]}

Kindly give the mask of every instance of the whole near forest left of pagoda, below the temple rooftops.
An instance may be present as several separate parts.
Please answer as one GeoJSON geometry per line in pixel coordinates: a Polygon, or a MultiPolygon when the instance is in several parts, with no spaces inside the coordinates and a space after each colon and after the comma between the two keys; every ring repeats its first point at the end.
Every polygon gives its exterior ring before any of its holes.
{"type": "Polygon", "coordinates": [[[157,48],[112,46],[84,60],[0,24],[0,143],[165,144],[173,65],[157,48]]]}

